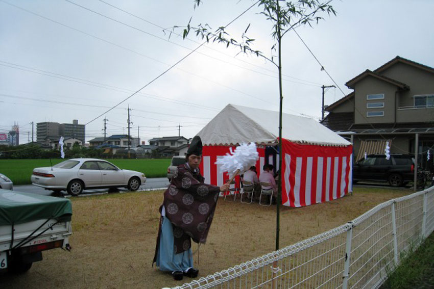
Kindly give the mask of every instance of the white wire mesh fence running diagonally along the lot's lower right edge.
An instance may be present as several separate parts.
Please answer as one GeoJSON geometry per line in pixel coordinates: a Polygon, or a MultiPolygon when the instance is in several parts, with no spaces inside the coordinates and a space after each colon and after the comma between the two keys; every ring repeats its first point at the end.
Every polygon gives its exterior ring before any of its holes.
{"type": "Polygon", "coordinates": [[[434,230],[434,187],[345,225],[172,289],[378,288],[434,230]]]}

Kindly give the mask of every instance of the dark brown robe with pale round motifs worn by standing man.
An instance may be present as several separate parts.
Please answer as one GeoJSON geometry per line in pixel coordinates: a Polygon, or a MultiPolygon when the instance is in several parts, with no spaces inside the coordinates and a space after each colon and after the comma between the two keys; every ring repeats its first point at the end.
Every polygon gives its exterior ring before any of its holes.
{"type": "MultiPolygon", "coordinates": [[[[196,243],[206,242],[220,188],[207,185],[204,180],[199,169],[194,172],[187,164],[182,164],[175,170],[171,185],[164,192],[160,213],[164,206],[165,217],[173,226],[175,254],[187,251],[191,247],[191,239],[196,243]]],[[[162,220],[163,217],[160,218],[154,262],[162,220]]]]}

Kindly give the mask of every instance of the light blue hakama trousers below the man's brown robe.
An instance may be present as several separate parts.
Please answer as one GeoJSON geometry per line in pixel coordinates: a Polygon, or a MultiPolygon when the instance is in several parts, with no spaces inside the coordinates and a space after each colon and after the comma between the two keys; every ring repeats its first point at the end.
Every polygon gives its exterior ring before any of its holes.
{"type": "Polygon", "coordinates": [[[172,223],[163,217],[161,225],[160,244],[157,253],[157,266],[161,271],[183,271],[193,267],[191,248],[179,254],[174,254],[174,237],[172,223]]]}

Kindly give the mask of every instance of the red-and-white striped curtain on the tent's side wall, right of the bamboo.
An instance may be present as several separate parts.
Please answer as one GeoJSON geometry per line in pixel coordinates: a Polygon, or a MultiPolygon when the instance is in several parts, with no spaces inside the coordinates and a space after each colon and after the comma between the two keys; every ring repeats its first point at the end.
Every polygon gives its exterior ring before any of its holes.
{"type": "Polygon", "coordinates": [[[352,146],[282,142],[282,204],[307,206],[341,198],[352,190],[352,146]]]}

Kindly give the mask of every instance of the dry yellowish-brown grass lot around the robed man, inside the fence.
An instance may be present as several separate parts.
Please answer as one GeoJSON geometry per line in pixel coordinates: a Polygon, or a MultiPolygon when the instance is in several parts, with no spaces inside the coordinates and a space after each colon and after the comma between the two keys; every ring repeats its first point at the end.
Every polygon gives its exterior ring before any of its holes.
{"type": "MultiPolygon", "coordinates": [[[[280,247],[337,227],[409,189],[355,188],[352,196],[302,208],[281,209],[280,247]]],[[[175,282],[151,267],[162,191],[73,198],[71,252],[43,253],[29,272],[0,276],[0,287],[162,288],[175,282]]],[[[206,245],[195,255],[206,276],[275,248],[276,206],[219,200],[206,245]]],[[[197,245],[194,244],[193,250],[197,245]]]]}

